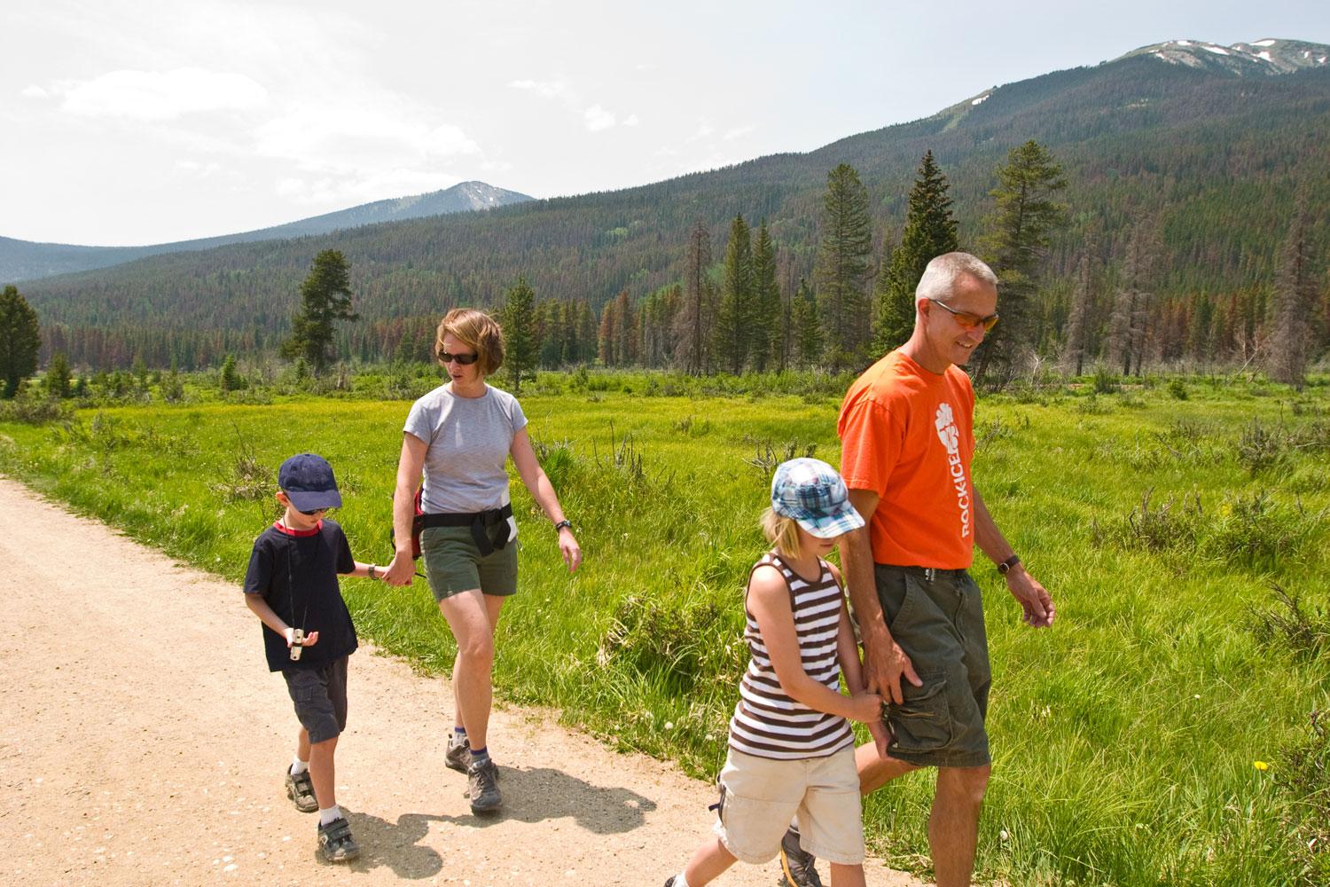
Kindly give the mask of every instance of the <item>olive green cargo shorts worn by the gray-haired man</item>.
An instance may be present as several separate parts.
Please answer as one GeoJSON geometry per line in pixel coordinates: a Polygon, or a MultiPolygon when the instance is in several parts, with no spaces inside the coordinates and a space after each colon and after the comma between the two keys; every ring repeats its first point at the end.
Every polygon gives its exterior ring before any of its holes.
{"type": "Polygon", "coordinates": [[[900,678],[904,701],[887,705],[887,751],[927,767],[988,765],[992,673],[979,586],[963,569],[875,568],[887,629],[923,681],[900,678]]]}

